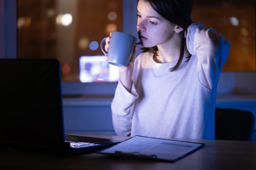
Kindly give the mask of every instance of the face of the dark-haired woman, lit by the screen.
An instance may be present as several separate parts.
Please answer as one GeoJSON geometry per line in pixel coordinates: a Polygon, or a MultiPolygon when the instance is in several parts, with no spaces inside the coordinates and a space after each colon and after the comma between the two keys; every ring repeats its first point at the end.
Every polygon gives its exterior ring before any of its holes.
{"type": "Polygon", "coordinates": [[[171,41],[177,25],[160,16],[147,0],[139,0],[137,10],[137,29],[143,47],[164,45],[171,41]]]}

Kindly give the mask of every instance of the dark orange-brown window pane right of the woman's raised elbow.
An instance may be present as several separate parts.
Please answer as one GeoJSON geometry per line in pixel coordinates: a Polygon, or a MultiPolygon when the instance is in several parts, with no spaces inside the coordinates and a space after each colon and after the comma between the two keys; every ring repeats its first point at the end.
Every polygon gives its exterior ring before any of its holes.
{"type": "Polygon", "coordinates": [[[255,7],[255,0],[194,0],[194,20],[230,41],[229,58],[222,71],[256,71],[255,7]]]}

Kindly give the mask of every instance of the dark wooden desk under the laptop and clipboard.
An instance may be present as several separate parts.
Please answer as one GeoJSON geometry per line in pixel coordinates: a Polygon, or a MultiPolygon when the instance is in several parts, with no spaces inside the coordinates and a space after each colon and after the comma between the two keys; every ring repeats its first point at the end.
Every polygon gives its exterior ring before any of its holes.
{"type": "MultiPolygon", "coordinates": [[[[121,136],[97,136],[124,140],[121,136]]],[[[0,151],[0,170],[256,170],[256,142],[186,140],[206,146],[175,163],[90,153],[59,157],[40,153],[0,151]]]]}

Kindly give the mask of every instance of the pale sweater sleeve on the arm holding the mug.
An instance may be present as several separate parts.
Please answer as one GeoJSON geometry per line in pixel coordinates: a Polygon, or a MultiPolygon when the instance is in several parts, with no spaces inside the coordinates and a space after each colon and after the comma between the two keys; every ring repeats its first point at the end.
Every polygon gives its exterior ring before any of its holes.
{"type": "Polygon", "coordinates": [[[134,84],[131,92],[129,92],[120,81],[118,82],[111,104],[113,126],[118,136],[129,136],[131,134],[132,117],[137,98],[138,94],[134,84]]]}

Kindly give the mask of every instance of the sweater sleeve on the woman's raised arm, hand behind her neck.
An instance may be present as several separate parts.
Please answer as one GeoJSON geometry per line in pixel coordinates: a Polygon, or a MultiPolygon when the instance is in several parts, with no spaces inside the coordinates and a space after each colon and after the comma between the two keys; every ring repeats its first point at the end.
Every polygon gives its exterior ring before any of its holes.
{"type": "Polygon", "coordinates": [[[215,30],[193,23],[188,28],[186,43],[189,52],[198,58],[199,82],[209,90],[215,89],[228,58],[229,41],[215,30]]]}

